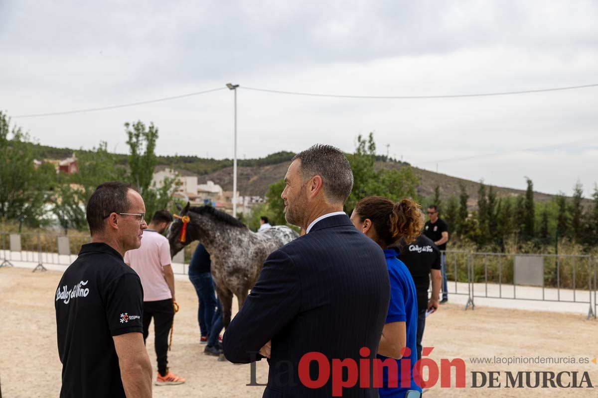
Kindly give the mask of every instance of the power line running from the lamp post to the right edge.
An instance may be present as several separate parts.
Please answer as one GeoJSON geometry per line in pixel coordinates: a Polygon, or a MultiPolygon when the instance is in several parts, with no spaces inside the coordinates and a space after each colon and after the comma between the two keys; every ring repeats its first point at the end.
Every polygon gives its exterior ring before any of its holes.
{"type": "Polygon", "coordinates": [[[496,95],[517,95],[517,94],[530,94],[532,92],[575,90],[577,88],[588,88],[588,87],[598,87],[598,84],[586,84],[586,85],[581,85],[581,86],[569,86],[569,87],[557,87],[557,88],[541,88],[538,90],[485,92],[485,93],[481,93],[481,94],[454,94],[454,95],[337,95],[337,94],[316,94],[313,92],[267,90],[265,88],[254,88],[254,87],[241,86],[241,88],[244,88],[245,90],[272,92],[274,94],[307,95],[309,97],[329,97],[329,98],[361,98],[361,99],[368,99],[368,100],[421,100],[421,99],[430,99],[430,98],[492,97],[492,96],[496,96],[496,95]]]}

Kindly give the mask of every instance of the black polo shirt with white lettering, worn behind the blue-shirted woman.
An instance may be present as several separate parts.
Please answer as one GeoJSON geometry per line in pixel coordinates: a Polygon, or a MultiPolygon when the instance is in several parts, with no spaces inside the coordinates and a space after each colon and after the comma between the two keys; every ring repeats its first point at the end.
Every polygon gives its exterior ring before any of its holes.
{"type": "Polygon", "coordinates": [[[428,308],[431,270],[440,270],[440,251],[429,237],[420,235],[411,245],[401,248],[399,260],[409,269],[417,294],[417,309],[428,308]]]}

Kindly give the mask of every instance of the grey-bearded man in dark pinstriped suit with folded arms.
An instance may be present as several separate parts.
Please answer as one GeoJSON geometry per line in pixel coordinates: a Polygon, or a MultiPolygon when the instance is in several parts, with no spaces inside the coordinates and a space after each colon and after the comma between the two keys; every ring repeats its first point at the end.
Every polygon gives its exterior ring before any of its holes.
{"type": "MultiPolygon", "coordinates": [[[[264,397],[330,397],[332,378],[338,388],[338,379],[350,379],[351,372],[327,374],[324,363],[319,368],[305,359],[309,371],[301,371],[301,357],[316,351],[328,366],[332,359],[349,359],[355,367],[376,357],[390,297],[385,255],[342,211],[353,186],[343,152],[324,145],[304,150],[293,158],[285,182],[286,221],[306,234],[267,258],[224,334],[224,356],[233,363],[268,358],[264,397]],[[362,347],[367,349],[360,353],[362,347]]],[[[377,397],[370,378],[359,374],[354,385],[346,382],[343,397],[377,397]]]]}

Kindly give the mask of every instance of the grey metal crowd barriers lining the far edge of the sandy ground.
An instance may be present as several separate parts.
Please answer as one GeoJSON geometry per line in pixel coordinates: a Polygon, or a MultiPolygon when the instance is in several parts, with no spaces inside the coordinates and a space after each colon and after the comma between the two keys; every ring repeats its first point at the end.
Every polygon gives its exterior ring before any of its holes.
{"type": "MultiPolygon", "coordinates": [[[[89,236],[0,232],[0,267],[13,262],[69,266],[89,236]]],[[[172,260],[176,274],[187,274],[197,242],[172,260]]],[[[531,300],[588,305],[588,319],[598,310],[598,261],[590,255],[443,252],[447,293],[467,295],[465,310],[475,298],[531,300]],[[593,294],[592,294],[593,292],[593,294]],[[592,296],[594,297],[592,300],[592,296]]]]}

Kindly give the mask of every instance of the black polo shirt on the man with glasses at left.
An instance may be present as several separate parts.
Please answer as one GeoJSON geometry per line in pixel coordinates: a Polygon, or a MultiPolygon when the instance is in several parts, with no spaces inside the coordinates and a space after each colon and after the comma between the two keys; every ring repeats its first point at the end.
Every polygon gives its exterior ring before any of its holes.
{"type": "Polygon", "coordinates": [[[143,298],[139,276],[117,251],[81,246],[54,297],[60,397],[125,397],[112,336],[143,332],[143,298]]]}

